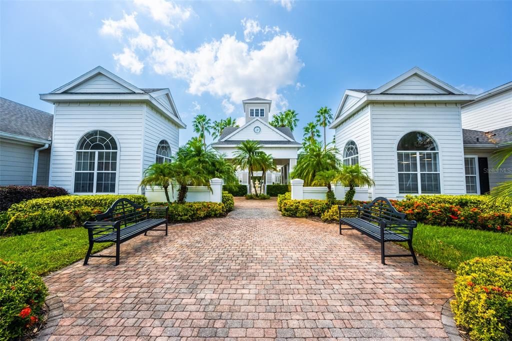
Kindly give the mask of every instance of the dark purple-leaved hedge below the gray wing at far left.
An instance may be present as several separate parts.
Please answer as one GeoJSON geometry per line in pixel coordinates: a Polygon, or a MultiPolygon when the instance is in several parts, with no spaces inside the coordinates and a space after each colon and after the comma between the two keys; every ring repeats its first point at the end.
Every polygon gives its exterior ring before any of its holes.
{"type": "Polygon", "coordinates": [[[0,187],[0,211],[5,211],[12,204],[24,200],[37,198],[51,198],[69,195],[68,191],[61,187],[46,186],[1,186],[0,187]]]}

